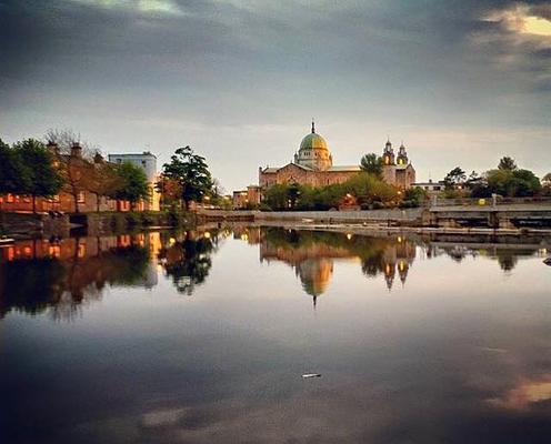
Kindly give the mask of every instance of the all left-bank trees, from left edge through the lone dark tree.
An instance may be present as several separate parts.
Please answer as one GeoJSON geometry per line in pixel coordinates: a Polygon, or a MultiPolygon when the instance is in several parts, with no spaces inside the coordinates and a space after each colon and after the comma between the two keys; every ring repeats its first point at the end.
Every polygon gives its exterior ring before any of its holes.
{"type": "MultiPolygon", "coordinates": [[[[132,209],[151,194],[142,168],[130,162],[107,162],[100,151],[71,130],[49,130],[47,143],[26,139],[13,144],[0,140],[0,194],[51,199],[60,192],[69,194],[76,212],[79,195],[96,195],[97,211],[101,199],[129,201],[132,209]]],[[[154,184],[166,206],[189,210],[191,202],[219,204],[223,189],[212,178],[207,161],[190,147],[176,150],[154,184]]]]}

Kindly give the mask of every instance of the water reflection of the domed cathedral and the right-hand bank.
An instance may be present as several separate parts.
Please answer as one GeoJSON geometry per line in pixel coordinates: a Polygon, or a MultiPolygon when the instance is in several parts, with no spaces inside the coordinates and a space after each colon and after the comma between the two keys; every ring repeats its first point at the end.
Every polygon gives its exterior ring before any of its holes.
{"type": "Polygon", "coordinates": [[[541,243],[528,245],[473,243],[469,242],[470,238],[464,236],[450,242],[441,241],[438,236],[427,239],[384,233],[374,236],[241,226],[234,229],[233,238],[259,245],[260,262],[280,261],[294,269],[304,292],[313,297],[314,305],[318,296],[323,294],[330,284],[335,261],[358,261],[365,276],[381,275],[388,290],[392,291],[397,279],[402,286],[405,285],[408,273],[413,262],[419,259],[418,254],[427,260],[448,255],[458,263],[465,258],[484,256],[497,260],[505,272],[514,269],[519,258],[545,255],[545,250],[542,253],[541,243]]]}

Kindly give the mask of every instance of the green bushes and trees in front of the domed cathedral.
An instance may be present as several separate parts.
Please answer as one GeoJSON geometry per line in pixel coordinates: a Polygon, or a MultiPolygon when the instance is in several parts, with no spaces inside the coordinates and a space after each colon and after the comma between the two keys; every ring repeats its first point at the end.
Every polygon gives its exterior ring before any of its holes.
{"type": "MultiPolygon", "coordinates": [[[[358,173],[344,183],[313,188],[298,184],[270,186],[263,205],[271,210],[330,210],[350,194],[360,205],[398,200],[398,190],[373,174],[358,173]]],[[[262,208],[261,208],[262,209],[262,208]]]]}

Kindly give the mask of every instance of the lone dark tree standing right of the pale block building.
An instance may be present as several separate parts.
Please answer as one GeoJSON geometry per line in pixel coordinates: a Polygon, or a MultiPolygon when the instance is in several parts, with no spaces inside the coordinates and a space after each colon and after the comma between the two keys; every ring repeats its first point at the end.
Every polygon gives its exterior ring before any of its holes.
{"type": "Polygon", "coordinates": [[[179,148],[163,165],[163,175],[181,186],[181,199],[189,210],[192,201],[201,201],[212,189],[212,176],[204,158],[196,154],[190,147],[179,148]]]}

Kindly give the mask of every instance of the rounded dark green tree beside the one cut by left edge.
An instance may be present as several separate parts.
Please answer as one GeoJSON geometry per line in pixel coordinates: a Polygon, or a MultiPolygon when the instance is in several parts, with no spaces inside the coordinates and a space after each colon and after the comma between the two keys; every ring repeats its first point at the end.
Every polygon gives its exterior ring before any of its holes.
{"type": "Polygon", "coordinates": [[[21,160],[27,180],[22,194],[32,198],[32,212],[37,211],[37,196],[50,198],[61,190],[63,180],[54,167],[54,158],[43,145],[34,139],[18,142],[14,147],[21,160]]]}

